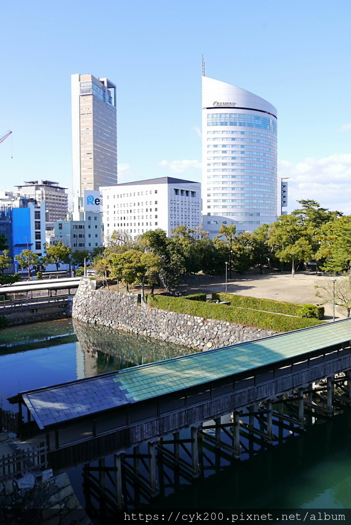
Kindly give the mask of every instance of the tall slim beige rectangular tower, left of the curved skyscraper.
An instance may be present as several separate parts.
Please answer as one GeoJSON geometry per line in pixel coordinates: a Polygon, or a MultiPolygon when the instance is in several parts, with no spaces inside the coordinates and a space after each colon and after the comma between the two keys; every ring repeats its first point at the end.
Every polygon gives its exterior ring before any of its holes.
{"type": "Polygon", "coordinates": [[[72,75],[73,197],[117,184],[116,86],[107,78],[72,75]]]}

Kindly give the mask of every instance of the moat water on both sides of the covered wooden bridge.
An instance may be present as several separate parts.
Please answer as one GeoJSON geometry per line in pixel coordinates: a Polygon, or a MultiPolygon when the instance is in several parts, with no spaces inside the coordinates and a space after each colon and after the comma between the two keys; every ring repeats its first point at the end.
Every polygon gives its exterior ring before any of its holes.
{"type": "MultiPolygon", "coordinates": [[[[0,333],[0,406],[13,409],[7,398],[17,392],[188,353],[72,320],[7,328],[0,333]]],[[[277,446],[255,445],[255,455],[241,461],[211,454],[198,480],[166,483],[152,507],[351,508],[351,410],[277,446]]],[[[81,467],[68,475],[85,507],[81,467]]]]}

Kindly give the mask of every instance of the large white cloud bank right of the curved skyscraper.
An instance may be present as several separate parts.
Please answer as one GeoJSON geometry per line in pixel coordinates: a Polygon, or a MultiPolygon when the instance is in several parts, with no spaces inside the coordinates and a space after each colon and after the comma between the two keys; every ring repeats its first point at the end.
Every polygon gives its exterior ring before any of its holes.
{"type": "Polygon", "coordinates": [[[278,176],[288,180],[288,211],[296,201],[314,199],[329,209],[351,214],[351,154],[306,158],[293,164],[278,161],[278,176]]]}

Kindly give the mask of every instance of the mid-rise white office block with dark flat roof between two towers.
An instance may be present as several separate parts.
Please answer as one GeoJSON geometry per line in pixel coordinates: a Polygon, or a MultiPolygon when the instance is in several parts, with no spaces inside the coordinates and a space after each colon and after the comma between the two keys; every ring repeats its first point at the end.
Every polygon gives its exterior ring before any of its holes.
{"type": "Polygon", "coordinates": [[[161,177],[101,186],[105,244],[113,231],[132,237],[163,229],[171,236],[177,226],[201,225],[201,184],[161,177]]]}

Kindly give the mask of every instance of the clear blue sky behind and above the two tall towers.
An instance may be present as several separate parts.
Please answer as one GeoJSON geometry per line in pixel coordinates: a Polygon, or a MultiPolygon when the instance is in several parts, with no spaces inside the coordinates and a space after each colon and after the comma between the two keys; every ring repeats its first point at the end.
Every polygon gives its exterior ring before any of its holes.
{"type": "Polygon", "coordinates": [[[117,84],[119,182],[201,180],[203,54],[207,76],[277,108],[290,209],[315,198],[351,213],[350,13],[348,0],[3,3],[0,190],[71,187],[75,73],[117,84]]]}

